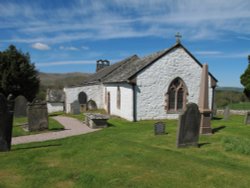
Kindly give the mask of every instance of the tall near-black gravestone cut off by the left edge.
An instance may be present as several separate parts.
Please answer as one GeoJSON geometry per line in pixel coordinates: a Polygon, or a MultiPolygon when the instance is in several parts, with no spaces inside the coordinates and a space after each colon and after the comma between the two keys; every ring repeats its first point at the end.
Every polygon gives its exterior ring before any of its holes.
{"type": "Polygon", "coordinates": [[[12,95],[6,100],[0,93],[0,151],[10,151],[13,126],[14,99],[12,95]]]}

